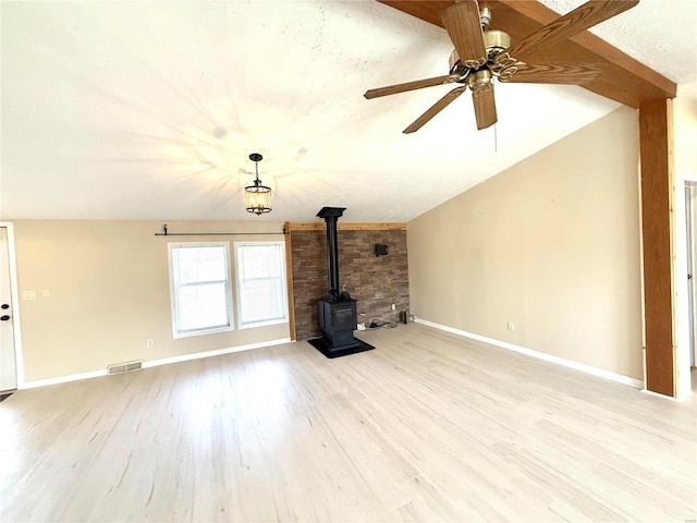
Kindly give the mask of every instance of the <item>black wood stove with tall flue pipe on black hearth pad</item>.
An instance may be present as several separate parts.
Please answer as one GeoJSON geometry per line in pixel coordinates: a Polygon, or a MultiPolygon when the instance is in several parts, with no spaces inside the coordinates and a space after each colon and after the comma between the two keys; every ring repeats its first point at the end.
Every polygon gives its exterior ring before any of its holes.
{"type": "Polygon", "coordinates": [[[337,220],[344,207],[322,207],[317,214],[327,222],[327,262],[329,267],[329,293],[317,301],[317,323],[322,337],[309,342],[327,357],[344,356],[368,351],[375,346],[354,338],[358,326],[356,300],[347,292],[339,291],[339,242],[337,220]]]}

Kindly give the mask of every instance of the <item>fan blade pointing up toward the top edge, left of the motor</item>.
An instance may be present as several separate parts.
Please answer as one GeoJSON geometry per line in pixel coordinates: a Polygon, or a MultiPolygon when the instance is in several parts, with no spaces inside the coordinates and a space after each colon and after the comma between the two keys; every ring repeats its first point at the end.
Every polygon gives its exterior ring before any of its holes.
{"type": "Polygon", "coordinates": [[[487,48],[484,44],[477,0],[451,3],[438,14],[462,63],[472,69],[484,65],[487,61],[487,48]]]}

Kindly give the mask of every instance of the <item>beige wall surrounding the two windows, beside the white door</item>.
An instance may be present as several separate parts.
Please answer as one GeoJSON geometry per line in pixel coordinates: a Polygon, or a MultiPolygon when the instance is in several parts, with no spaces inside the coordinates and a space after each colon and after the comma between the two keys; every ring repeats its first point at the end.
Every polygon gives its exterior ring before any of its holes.
{"type": "MultiPolygon", "coordinates": [[[[174,340],[168,242],[283,235],[155,236],[162,222],[14,222],[25,380],[102,370],[289,337],[288,324],[174,340]],[[35,301],[23,300],[35,290],[35,301]],[[50,292],[48,300],[41,297],[50,292]],[[155,340],[146,349],[146,340],[155,340]]],[[[170,232],[276,232],[281,223],[170,222],[170,232]]]]}

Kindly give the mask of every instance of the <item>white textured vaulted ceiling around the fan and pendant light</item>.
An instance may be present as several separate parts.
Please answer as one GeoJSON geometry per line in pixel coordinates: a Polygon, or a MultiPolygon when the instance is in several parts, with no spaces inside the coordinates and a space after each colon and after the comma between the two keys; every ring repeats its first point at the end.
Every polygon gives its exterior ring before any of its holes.
{"type": "MultiPolygon", "coordinates": [[[[341,206],[347,221],[407,221],[619,107],[574,86],[497,84],[496,129],[476,131],[466,95],[404,135],[451,87],[363,93],[445,74],[451,44],[372,0],[0,9],[5,220],[310,221],[341,206]],[[253,151],[273,188],[264,217],[243,208],[253,151]]],[[[697,2],[643,0],[594,32],[697,78],[697,2]]]]}

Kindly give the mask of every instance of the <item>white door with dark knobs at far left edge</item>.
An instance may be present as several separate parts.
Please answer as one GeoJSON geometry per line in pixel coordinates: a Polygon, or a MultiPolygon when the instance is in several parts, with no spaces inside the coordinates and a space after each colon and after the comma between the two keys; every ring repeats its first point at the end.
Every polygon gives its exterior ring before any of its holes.
{"type": "Polygon", "coordinates": [[[0,392],[17,388],[8,228],[0,227],[0,392]]]}

